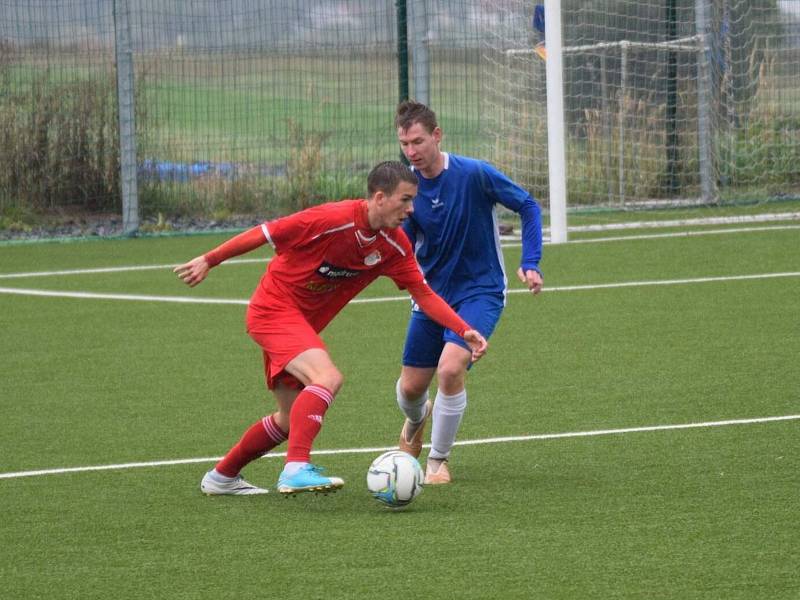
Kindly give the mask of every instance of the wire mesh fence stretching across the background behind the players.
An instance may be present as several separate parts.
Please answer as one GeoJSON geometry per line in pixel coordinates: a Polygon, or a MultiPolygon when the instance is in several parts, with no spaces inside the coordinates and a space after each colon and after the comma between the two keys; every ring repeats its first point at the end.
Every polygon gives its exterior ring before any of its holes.
{"type": "MultiPolygon", "coordinates": [[[[410,94],[445,149],[546,206],[536,2],[0,0],[0,208],[121,212],[125,191],[137,214],[225,216],[362,195],[399,156],[403,5],[410,94]]],[[[800,0],[562,11],[570,204],[798,193],[800,0]]]]}

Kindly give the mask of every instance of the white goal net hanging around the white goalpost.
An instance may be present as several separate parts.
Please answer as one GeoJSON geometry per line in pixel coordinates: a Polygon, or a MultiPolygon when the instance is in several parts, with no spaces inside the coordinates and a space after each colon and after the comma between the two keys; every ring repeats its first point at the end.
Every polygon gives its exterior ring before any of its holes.
{"type": "MultiPolygon", "coordinates": [[[[507,0],[486,36],[494,161],[547,197],[546,15],[507,0]]],[[[800,194],[800,1],[565,0],[568,203],[800,194]]]]}

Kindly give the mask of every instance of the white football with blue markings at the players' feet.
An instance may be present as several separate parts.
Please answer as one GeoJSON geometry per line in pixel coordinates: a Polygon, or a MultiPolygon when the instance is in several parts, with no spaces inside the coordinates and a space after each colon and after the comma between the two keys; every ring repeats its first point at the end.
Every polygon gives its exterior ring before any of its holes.
{"type": "Polygon", "coordinates": [[[401,508],[419,495],[423,479],[416,458],[400,450],[390,450],[372,461],[367,471],[367,488],[379,502],[401,508]]]}

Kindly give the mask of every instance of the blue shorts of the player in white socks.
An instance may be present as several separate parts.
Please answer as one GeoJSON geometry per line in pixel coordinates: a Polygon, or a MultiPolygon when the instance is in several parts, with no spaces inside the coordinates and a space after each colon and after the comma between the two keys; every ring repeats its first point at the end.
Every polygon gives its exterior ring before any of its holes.
{"type": "MultiPolygon", "coordinates": [[[[458,316],[473,329],[480,331],[488,340],[503,312],[503,299],[496,296],[476,296],[467,298],[453,308],[458,316]]],[[[467,343],[455,333],[431,320],[424,312],[412,311],[406,333],[406,345],[403,348],[403,366],[436,367],[447,342],[469,350],[467,343]]]]}

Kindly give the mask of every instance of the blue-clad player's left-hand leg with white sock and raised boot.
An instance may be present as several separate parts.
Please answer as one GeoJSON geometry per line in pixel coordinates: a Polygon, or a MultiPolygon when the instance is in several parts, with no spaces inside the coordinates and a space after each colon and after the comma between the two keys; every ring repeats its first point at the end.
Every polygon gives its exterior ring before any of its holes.
{"type": "Polygon", "coordinates": [[[403,367],[397,381],[397,405],[406,416],[398,445],[400,450],[414,458],[418,458],[422,452],[425,423],[432,408],[428,400],[428,387],[435,372],[433,368],[403,367]]]}

